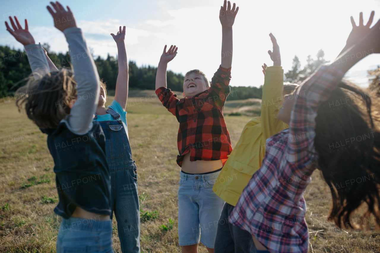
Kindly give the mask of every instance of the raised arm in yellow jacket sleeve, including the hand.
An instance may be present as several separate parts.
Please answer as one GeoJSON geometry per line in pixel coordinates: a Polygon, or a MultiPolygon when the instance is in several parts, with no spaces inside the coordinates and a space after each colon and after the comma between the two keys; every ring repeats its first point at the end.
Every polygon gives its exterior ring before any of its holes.
{"type": "Polygon", "coordinates": [[[281,67],[280,47],[276,38],[269,34],[273,44],[273,51],[268,51],[273,66],[262,66],[265,75],[263,85],[263,97],[261,99],[261,129],[264,139],[283,130],[283,122],[277,118],[282,103],[283,69],[281,67]]]}

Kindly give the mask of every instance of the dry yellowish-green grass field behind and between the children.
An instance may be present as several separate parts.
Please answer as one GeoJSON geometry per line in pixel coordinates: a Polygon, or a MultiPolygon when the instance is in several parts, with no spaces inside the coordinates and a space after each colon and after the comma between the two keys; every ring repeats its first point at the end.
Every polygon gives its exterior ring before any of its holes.
{"type": "MultiPolygon", "coordinates": [[[[109,96],[107,104],[112,99],[109,96]]],[[[251,106],[245,111],[255,114],[257,106],[260,108],[258,103],[260,100],[229,101],[225,114],[244,106],[251,106]]],[[[154,91],[131,92],[126,111],[139,175],[141,251],[180,252],[177,234],[180,168],[176,164],[179,123],[154,91]]],[[[25,113],[17,111],[12,98],[0,100],[0,115],[0,252],[55,252],[61,218],[53,213],[58,199],[46,135],[25,113]]],[[[225,116],[233,147],[250,118],[225,116]]],[[[327,221],[331,196],[318,171],[313,173],[304,196],[308,206],[309,252],[380,252],[380,234],[375,231],[371,217],[369,221],[359,220],[359,213],[353,217],[353,223],[368,224],[367,231],[340,230],[327,221]]],[[[114,250],[121,252],[115,218],[112,224],[114,250]]],[[[199,252],[207,250],[199,245],[199,252]]]]}

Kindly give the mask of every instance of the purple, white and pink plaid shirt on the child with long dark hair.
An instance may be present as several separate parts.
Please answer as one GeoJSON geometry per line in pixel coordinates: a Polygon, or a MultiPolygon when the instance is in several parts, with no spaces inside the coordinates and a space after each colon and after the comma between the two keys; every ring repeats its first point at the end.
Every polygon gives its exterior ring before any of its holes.
{"type": "MultiPolygon", "coordinates": [[[[315,117],[344,73],[322,66],[298,87],[289,128],[266,141],[261,168],[237,202],[229,221],[253,234],[271,253],[306,253],[309,248],[303,193],[317,160],[315,117]]],[[[291,99],[291,98],[290,98],[291,99]]]]}

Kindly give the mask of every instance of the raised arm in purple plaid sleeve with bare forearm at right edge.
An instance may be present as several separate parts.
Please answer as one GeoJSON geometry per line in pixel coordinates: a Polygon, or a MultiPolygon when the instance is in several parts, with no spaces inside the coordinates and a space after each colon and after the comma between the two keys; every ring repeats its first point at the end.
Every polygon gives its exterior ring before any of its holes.
{"type": "Polygon", "coordinates": [[[364,38],[352,45],[329,66],[322,66],[317,73],[306,80],[296,90],[293,110],[290,118],[291,136],[301,136],[288,142],[287,158],[293,163],[304,163],[312,151],[312,143],[315,137],[315,116],[320,102],[326,101],[331,91],[336,89],[340,79],[363,55],[380,53],[380,20],[370,28],[364,38]]]}

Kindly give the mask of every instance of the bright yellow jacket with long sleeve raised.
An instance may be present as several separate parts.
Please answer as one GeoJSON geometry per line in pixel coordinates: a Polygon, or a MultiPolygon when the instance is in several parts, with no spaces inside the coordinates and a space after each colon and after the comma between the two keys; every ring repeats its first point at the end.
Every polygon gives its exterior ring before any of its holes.
{"type": "Polygon", "coordinates": [[[289,126],[277,119],[282,104],[283,69],[271,66],[265,70],[261,117],[251,119],[241,133],[239,142],[228,156],[214,192],[228,204],[236,206],[243,189],[261,167],[266,139],[289,126]]]}

